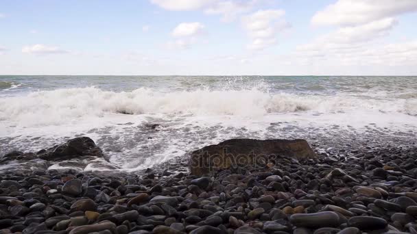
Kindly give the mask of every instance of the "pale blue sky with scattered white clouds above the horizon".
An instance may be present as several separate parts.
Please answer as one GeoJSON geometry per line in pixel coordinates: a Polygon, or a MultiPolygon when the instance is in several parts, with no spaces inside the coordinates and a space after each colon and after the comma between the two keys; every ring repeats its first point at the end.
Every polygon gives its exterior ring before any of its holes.
{"type": "Polygon", "coordinates": [[[0,75],[417,75],[417,0],[0,0],[0,75]]]}

